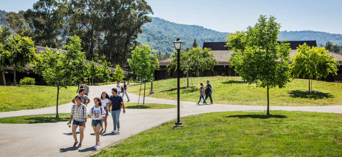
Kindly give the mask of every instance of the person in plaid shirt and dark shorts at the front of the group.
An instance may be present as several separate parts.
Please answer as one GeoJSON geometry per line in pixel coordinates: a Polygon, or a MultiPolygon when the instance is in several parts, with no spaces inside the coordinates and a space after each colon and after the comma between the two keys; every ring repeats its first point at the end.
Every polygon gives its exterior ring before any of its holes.
{"type": "Polygon", "coordinates": [[[68,124],[71,124],[71,119],[74,118],[72,128],[73,137],[75,139],[74,147],[76,147],[78,143],[76,134],[77,127],[80,127],[80,143],[78,144],[78,147],[81,147],[84,137],[83,128],[84,126],[86,126],[87,106],[81,102],[82,99],[83,97],[81,97],[80,95],[75,97],[76,103],[71,106],[70,120],[68,122],[68,124]]]}

